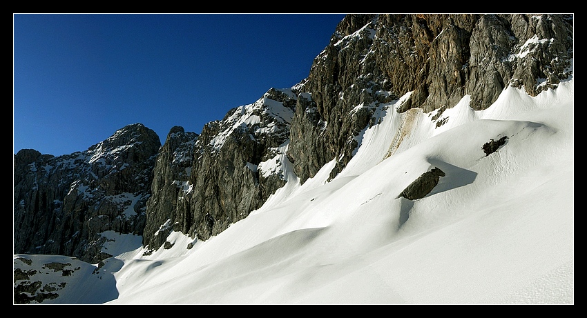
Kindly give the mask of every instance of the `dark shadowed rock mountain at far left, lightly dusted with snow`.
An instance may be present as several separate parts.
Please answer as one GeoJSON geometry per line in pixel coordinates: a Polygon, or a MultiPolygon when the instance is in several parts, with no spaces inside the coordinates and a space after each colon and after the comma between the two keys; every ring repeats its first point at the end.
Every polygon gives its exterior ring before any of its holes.
{"type": "Polygon", "coordinates": [[[69,255],[96,264],[106,231],[142,235],[161,142],[140,123],[83,152],[15,155],[15,254],[69,255]]]}

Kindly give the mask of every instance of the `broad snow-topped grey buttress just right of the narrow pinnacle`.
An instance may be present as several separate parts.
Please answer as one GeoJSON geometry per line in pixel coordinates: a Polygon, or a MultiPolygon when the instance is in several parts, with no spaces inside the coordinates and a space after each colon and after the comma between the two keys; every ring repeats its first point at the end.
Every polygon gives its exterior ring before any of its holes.
{"type": "Polygon", "coordinates": [[[291,90],[271,89],[202,131],[194,150],[188,199],[193,219],[186,233],[208,239],[260,208],[285,184],[279,170],[264,170],[262,163],[287,148],[295,104],[291,90]]]}

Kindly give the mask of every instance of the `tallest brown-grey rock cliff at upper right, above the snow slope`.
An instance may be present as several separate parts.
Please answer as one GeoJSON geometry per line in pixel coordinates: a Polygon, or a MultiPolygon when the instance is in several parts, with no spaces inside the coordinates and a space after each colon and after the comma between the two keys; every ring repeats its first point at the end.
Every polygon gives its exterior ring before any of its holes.
{"type": "Polygon", "coordinates": [[[335,159],[335,177],[374,110],[409,92],[398,112],[451,108],[465,95],[482,110],[507,86],[556,88],[570,74],[572,32],[567,14],[349,14],[300,85],[296,174],[304,182],[335,159]]]}

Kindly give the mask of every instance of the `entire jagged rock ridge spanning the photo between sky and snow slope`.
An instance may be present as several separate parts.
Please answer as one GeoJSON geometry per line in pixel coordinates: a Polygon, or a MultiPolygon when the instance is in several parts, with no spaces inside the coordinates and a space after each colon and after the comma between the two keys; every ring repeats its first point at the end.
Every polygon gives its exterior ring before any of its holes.
{"type": "Polygon", "coordinates": [[[572,34],[572,14],[349,14],[306,79],[200,134],[176,126],[161,145],[136,123],[71,155],[20,150],[14,252],[97,264],[117,234],[140,237],[147,254],[169,248],[173,231],[209,239],[260,208],[286,169],[304,183],[335,160],[336,177],[381,110],[420,108],[441,126],[465,95],[483,110],[509,86],[557,88],[570,76],[572,34]]]}

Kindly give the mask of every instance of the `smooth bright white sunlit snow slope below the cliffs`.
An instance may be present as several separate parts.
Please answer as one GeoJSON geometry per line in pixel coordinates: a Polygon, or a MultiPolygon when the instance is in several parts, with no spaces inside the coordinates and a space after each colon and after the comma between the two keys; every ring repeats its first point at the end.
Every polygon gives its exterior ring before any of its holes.
{"type": "MultiPolygon", "coordinates": [[[[117,294],[106,304],[574,304],[572,79],[537,97],[508,88],[479,112],[465,97],[439,128],[432,114],[398,114],[399,103],[377,110],[381,123],[335,179],[326,181],[334,161],[302,186],[286,166],[286,186],[220,235],[187,250],[194,240],[174,233],[169,250],[109,259],[123,264],[104,267],[115,290],[96,295],[117,294]],[[503,136],[485,157],[483,143],[503,136]],[[398,198],[434,167],[446,176],[429,195],[398,198]]],[[[65,296],[56,302],[76,301],[65,296]]]]}

